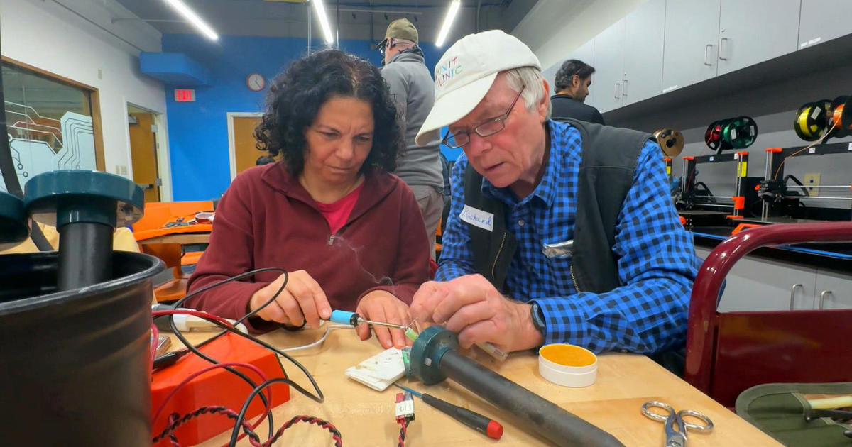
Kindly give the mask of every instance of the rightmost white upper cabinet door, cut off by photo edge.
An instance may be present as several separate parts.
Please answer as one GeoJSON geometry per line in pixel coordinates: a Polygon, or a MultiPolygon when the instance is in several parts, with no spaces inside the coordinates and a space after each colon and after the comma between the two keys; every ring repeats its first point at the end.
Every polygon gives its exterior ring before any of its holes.
{"type": "Polygon", "coordinates": [[[798,48],[852,34],[852,2],[849,0],[802,0],[798,48]]]}

